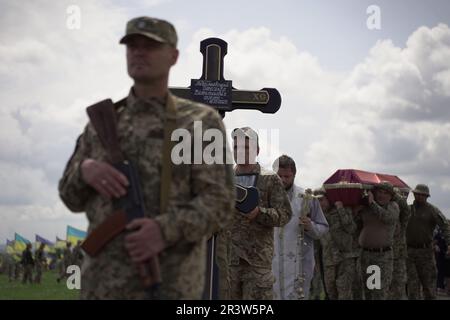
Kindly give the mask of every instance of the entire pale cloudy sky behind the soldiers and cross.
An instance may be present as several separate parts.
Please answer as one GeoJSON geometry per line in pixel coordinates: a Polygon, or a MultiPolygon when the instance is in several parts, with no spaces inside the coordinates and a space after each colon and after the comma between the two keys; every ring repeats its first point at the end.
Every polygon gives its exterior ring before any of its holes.
{"type": "Polygon", "coordinates": [[[201,75],[199,42],[219,37],[228,42],[224,75],[234,87],[280,91],[275,115],[225,118],[228,129],[249,125],[279,137],[263,141],[264,165],[291,155],[303,187],[340,168],[395,174],[412,187],[429,184],[430,202],[450,217],[446,0],[2,0],[1,243],[14,232],[54,240],[67,224],[86,229],[84,216],[59,201],[57,183],[85,107],[129,90],[118,40],[138,15],[177,27],[172,86],[201,75]],[[381,29],[367,26],[370,5],[380,9],[381,29]]]}

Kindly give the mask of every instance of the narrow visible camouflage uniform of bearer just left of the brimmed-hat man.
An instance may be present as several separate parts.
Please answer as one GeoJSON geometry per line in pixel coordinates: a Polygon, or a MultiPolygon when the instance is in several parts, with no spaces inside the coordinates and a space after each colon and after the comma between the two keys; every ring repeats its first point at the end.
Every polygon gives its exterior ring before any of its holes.
{"type": "Polygon", "coordinates": [[[408,256],[406,248],[406,227],[411,216],[411,211],[406,199],[399,193],[394,195],[393,200],[398,204],[400,214],[394,233],[394,262],[392,281],[389,288],[389,300],[402,300],[406,296],[406,258],[408,256]]]}

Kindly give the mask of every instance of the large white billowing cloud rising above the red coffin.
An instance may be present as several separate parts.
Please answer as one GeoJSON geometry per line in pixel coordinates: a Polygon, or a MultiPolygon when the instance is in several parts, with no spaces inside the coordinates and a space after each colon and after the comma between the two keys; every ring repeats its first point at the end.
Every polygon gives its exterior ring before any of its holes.
{"type": "Polygon", "coordinates": [[[450,52],[448,39],[450,29],[441,24],[419,28],[405,48],[378,42],[338,88],[336,112],[327,134],[312,144],[308,166],[329,171],[337,162],[336,169],[398,174],[411,186],[428,183],[438,195],[432,200],[448,212],[442,192],[450,178],[450,59],[442,58],[450,52]]]}

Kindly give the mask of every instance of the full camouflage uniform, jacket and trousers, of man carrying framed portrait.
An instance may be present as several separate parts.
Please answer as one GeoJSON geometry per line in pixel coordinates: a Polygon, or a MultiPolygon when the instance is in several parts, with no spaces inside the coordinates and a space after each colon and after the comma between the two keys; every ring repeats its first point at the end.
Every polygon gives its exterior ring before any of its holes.
{"type": "Polygon", "coordinates": [[[277,174],[255,166],[260,213],[249,221],[235,212],[230,227],[230,298],[270,300],[273,298],[272,258],[274,227],[284,226],[292,216],[283,183],[277,174]]]}

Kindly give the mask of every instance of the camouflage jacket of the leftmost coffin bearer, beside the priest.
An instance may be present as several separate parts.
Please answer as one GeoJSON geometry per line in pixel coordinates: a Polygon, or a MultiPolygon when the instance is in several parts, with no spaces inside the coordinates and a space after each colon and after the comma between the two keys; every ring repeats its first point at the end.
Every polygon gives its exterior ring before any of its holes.
{"type": "Polygon", "coordinates": [[[336,207],[324,212],[328,221],[328,233],[320,239],[324,266],[333,266],[346,258],[357,256],[353,250],[353,234],[356,224],[351,209],[336,207]]]}

